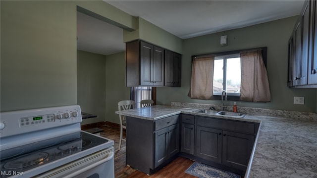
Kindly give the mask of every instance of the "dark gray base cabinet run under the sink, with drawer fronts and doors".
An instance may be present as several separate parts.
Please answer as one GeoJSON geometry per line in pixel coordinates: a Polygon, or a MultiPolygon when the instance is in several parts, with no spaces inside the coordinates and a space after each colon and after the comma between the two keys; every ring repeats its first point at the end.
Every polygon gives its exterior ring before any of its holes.
{"type": "Polygon", "coordinates": [[[181,128],[181,155],[237,174],[245,173],[258,123],[183,114],[181,128]]]}

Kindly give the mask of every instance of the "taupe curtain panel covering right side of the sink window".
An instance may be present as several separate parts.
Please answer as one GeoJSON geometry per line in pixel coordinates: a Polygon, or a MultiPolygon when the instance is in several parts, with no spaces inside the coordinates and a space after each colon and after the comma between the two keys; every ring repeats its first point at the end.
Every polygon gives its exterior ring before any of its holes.
{"type": "Polygon", "coordinates": [[[261,50],[241,53],[241,101],[270,102],[271,94],[261,50]]]}

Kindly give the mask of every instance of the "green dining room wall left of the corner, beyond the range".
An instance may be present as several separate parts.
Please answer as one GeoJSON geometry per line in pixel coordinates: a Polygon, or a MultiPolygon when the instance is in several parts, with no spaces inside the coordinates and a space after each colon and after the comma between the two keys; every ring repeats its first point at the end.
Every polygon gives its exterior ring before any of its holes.
{"type": "Polygon", "coordinates": [[[77,50],[77,104],[97,118],[85,119],[82,125],[106,119],[106,56],[77,50]]]}

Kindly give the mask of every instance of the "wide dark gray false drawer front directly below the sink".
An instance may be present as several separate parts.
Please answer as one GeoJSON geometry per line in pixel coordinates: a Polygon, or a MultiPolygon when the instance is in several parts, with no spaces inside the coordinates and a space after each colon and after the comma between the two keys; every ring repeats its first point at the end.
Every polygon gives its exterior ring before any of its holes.
{"type": "Polygon", "coordinates": [[[236,131],[246,134],[255,134],[255,124],[249,122],[197,117],[197,125],[203,127],[217,128],[221,130],[236,131]]]}

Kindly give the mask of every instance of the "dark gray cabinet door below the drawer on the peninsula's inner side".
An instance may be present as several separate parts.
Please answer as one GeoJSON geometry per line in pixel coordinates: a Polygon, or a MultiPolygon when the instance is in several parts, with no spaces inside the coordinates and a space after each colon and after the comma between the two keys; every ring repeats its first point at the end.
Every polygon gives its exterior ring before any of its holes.
{"type": "Polygon", "coordinates": [[[155,167],[179,152],[178,124],[161,129],[155,135],[155,167]]]}

